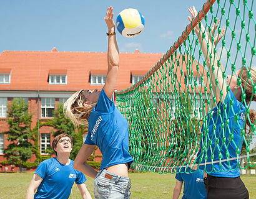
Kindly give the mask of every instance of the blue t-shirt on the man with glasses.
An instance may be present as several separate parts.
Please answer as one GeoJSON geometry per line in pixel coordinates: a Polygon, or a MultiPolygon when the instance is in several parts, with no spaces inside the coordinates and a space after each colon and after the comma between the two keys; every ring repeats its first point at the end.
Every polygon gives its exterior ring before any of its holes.
{"type": "Polygon", "coordinates": [[[76,182],[86,182],[84,174],[73,168],[74,161],[69,165],[61,164],[56,157],[44,160],[39,164],[35,174],[42,178],[34,198],[67,199],[71,188],[76,182]]]}

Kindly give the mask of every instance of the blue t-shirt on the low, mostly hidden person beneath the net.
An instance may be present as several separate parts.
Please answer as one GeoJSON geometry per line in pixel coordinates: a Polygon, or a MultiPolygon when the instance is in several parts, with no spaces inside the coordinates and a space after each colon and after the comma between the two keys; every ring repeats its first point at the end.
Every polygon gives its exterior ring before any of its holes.
{"type": "Polygon", "coordinates": [[[191,170],[190,167],[187,167],[186,169],[185,167],[182,167],[175,178],[180,182],[184,182],[182,199],[206,198],[204,172],[202,170],[191,170]]]}

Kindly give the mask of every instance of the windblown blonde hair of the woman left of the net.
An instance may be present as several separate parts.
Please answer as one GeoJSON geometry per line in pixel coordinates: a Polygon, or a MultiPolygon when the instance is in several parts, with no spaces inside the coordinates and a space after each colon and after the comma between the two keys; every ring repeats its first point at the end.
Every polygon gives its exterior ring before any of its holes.
{"type": "Polygon", "coordinates": [[[84,90],[77,91],[64,103],[63,111],[67,118],[71,119],[75,127],[81,125],[87,126],[88,118],[92,109],[97,103],[84,104],[88,101],[82,95],[84,90]]]}

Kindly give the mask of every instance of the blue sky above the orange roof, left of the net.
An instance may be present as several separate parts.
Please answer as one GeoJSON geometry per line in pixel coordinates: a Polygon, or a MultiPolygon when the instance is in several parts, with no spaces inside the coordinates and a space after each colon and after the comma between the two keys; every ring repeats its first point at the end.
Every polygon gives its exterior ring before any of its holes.
{"type": "Polygon", "coordinates": [[[1,0],[0,52],[2,50],[107,51],[107,6],[114,19],[123,9],[138,9],[145,29],[132,39],[117,34],[120,52],[165,53],[189,24],[187,8],[199,10],[205,0],[191,1],[87,1],[1,0]]]}

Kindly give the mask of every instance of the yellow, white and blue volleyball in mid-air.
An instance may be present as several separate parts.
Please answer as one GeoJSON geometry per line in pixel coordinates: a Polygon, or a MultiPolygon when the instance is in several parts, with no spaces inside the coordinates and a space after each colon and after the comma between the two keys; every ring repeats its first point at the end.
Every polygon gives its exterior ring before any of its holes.
{"type": "Polygon", "coordinates": [[[117,16],[116,26],[124,37],[135,37],[144,29],[144,16],[137,9],[125,9],[117,16]]]}

